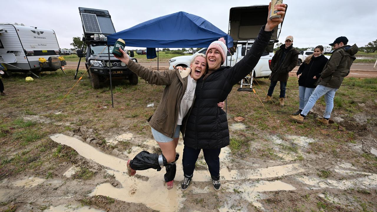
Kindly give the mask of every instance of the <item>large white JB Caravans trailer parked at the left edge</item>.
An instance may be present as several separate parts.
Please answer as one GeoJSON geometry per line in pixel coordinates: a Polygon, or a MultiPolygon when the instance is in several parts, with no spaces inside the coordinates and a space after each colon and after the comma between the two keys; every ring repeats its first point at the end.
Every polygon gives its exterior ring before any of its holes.
{"type": "Polygon", "coordinates": [[[36,77],[41,71],[63,71],[66,65],[54,30],[17,23],[0,24],[0,63],[8,75],[31,72],[36,77]]]}

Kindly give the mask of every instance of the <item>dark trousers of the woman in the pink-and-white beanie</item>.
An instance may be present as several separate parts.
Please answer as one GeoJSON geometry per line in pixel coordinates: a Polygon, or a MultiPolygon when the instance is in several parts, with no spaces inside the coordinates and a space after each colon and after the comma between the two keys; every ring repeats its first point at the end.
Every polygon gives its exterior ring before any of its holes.
{"type": "MultiPolygon", "coordinates": [[[[190,177],[194,173],[195,163],[201,149],[194,149],[188,146],[183,148],[183,173],[186,177],[190,177]]],[[[203,149],[204,160],[208,165],[211,177],[218,178],[220,176],[220,155],[221,149],[203,149]]],[[[216,179],[218,180],[218,179],[216,179]]]]}

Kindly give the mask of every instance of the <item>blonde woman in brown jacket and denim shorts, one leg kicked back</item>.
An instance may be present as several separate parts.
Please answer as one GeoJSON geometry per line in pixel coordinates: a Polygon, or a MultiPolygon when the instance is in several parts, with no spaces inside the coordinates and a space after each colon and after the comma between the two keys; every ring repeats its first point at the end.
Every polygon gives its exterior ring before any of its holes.
{"type": "MultiPolygon", "coordinates": [[[[149,84],[165,85],[161,101],[154,114],[149,118],[152,134],[161,148],[162,154],[151,154],[147,151],[139,152],[133,160],[127,161],[127,171],[130,176],[136,170],[157,169],[165,166],[164,180],[167,188],[172,189],[176,165],[179,154],[176,146],[179,140],[179,131],[184,133],[185,116],[189,113],[195,99],[196,81],[207,70],[207,57],[204,54],[194,55],[187,69],[173,69],[167,71],[152,71],[139,63],[130,60],[127,53],[120,49],[123,57],[116,57],[127,64],[132,72],[148,81],[149,84]]],[[[219,106],[224,106],[219,103],[219,106]]]]}

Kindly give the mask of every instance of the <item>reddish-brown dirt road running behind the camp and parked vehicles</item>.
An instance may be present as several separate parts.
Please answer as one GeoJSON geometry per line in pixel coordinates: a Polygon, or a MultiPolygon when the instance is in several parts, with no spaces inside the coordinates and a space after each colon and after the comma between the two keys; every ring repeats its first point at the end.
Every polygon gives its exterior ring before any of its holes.
{"type": "MultiPolygon", "coordinates": [[[[76,69],[77,63],[75,61],[67,61],[67,65],[65,66],[66,69],[76,69]]],[[[140,63],[145,67],[152,67],[157,68],[156,62],[147,62],[147,63],[140,63]]],[[[160,70],[165,70],[169,68],[169,63],[159,63],[158,64],[160,70]]],[[[293,71],[290,73],[291,76],[296,76],[296,71],[299,69],[300,66],[296,66],[293,71]]],[[[85,64],[80,63],[80,69],[85,69],[85,64]]],[[[373,69],[373,64],[354,64],[351,66],[351,72],[349,73],[349,77],[360,77],[360,78],[369,78],[369,77],[377,77],[377,69],[373,69]]]]}

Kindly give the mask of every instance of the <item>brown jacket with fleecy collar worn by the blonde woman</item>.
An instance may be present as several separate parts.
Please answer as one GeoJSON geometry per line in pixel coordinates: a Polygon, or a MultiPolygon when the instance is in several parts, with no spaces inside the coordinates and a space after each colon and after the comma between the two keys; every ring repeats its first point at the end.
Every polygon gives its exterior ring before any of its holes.
{"type": "MultiPolygon", "coordinates": [[[[178,122],[179,104],[181,104],[187,88],[187,76],[189,76],[191,69],[152,71],[139,63],[135,63],[133,60],[129,61],[127,67],[136,75],[148,81],[149,84],[166,85],[162,92],[160,103],[148,121],[153,129],[169,138],[173,138],[178,122]]],[[[184,134],[185,120],[186,117],[182,120],[182,134],[184,134]]]]}

